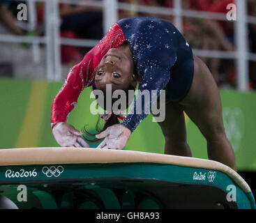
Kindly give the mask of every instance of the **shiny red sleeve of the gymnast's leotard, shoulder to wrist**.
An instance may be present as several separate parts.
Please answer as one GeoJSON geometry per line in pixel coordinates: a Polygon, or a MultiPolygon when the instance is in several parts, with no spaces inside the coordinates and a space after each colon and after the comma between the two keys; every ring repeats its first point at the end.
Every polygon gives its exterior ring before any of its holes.
{"type": "Polygon", "coordinates": [[[77,104],[77,99],[85,87],[91,86],[95,77],[98,63],[108,49],[119,47],[125,40],[123,31],[118,24],[114,24],[100,43],[93,47],[84,59],[70,69],[65,83],[52,102],[51,126],[54,128],[59,122],[66,122],[68,114],[77,104]]]}

